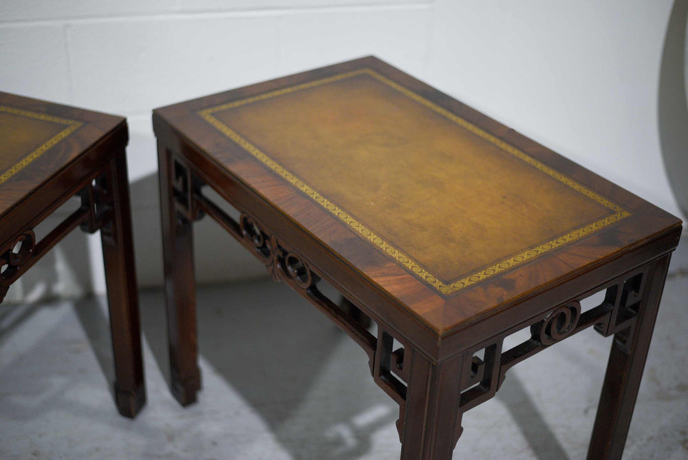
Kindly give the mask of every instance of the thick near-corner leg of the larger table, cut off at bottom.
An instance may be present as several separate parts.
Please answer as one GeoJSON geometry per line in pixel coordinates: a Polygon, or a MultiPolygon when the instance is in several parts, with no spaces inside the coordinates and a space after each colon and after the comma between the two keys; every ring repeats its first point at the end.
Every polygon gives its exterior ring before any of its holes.
{"type": "Polygon", "coordinates": [[[442,364],[407,351],[411,366],[401,430],[402,460],[449,460],[461,428],[459,409],[463,356],[442,364]]]}

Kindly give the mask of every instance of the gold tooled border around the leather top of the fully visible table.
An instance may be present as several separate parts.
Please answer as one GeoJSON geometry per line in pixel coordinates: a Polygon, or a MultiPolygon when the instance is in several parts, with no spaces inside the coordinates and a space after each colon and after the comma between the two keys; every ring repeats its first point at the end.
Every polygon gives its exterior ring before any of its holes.
{"type": "Polygon", "coordinates": [[[228,136],[231,140],[233,140],[235,143],[237,143],[239,146],[244,148],[248,153],[250,153],[252,156],[257,158],[261,163],[272,169],[272,171],[275,171],[279,176],[282,178],[286,179],[288,182],[290,182],[294,187],[297,187],[297,189],[301,190],[304,194],[318,202],[322,207],[327,209],[327,211],[330,211],[330,213],[334,214],[337,218],[339,218],[342,222],[347,224],[350,229],[355,231],[356,233],[359,233],[363,238],[369,240],[369,242],[372,242],[376,247],[381,249],[382,251],[385,251],[391,258],[394,258],[400,264],[403,266],[407,267],[413,273],[416,275],[418,278],[424,280],[424,282],[427,282],[433,288],[437,289],[440,291],[440,293],[444,295],[449,295],[451,293],[455,293],[456,291],[459,291],[460,289],[464,289],[466,286],[470,286],[471,284],[475,284],[477,282],[480,282],[486,278],[489,278],[493,275],[496,275],[497,273],[500,273],[504,270],[510,269],[511,267],[521,264],[525,262],[526,260],[533,259],[537,257],[537,255],[540,255],[541,253],[551,251],[552,249],[555,249],[557,247],[561,247],[563,244],[567,244],[569,242],[579,240],[580,238],[583,238],[584,236],[589,235],[590,233],[593,233],[594,231],[597,231],[603,227],[606,227],[610,224],[613,224],[614,222],[617,222],[627,216],[630,216],[631,213],[629,211],[626,211],[625,209],[622,209],[618,205],[616,205],[614,202],[608,200],[607,198],[604,198],[603,196],[600,196],[599,194],[596,194],[594,191],[588,189],[587,187],[584,187],[583,185],[579,184],[572,178],[565,176],[564,174],[561,174],[559,171],[555,171],[554,169],[548,167],[547,165],[544,165],[543,163],[540,163],[538,160],[533,158],[532,156],[529,156],[528,154],[524,153],[523,151],[517,149],[516,147],[513,147],[513,145],[509,145],[505,143],[503,140],[493,136],[492,134],[489,134],[488,132],[485,132],[484,130],[480,129],[479,127],[473,125],[472,123],[469,123],[468,121],[464,120],[463,118],[460,118],[460,116],[457,116],[451,112],[449,112],[446,109],[443,109],[442,107],[436,105],[435,103],[432,103],[431,101],[427,100],[426,98],[420,96],[419,94],[416,94],[412,92],[411,90],[408,90],[407,88],[399,85],[398,83],[395,83],[394,81],[391,81],[387,79],[385,76],[382,76],[375,72],[374,70],[370,69],[361,69],[361,70],[355,70],[354,72],[347,72],[345,74],[338,74],[335,76],[330,76],[326,79],[321,79],[321,80],[316,80],[316,81],[310,81],[308,83],[303,83],[301,85],[295,85],[291,87],[286,87],[281,90],[276,90],[272,92],[267,92],[264,94],[259,94],[257,96],[252,96],[249,98],[241,99],[239,101],[233,101],[230,103],[222,104],[222,105],[217,105],[216,107],[209,107],[206,109],[202,109],[198,112],[198,114],[208,123],[213,125],[213,127],[217,128],[220,132],[228,136]],[[445,284],[440,280],[438,277],[433,275],[432,273],[429,273],[426,269],[424,269],[419,262],[416,260],[413,260],[409,255],[404,253],[403,251],[400,251],[400,249],[392,246],[383,238],[380,238],[380,236],[376,235],[373,233],[370,229],[365,227],[361,222],[358,222],[358,220],[354,219],[352,216],[349,215],[346,211],[343,209],[337,207],[334,205],[334,203],[330,202],[319,194],[317,191],[312,189],[309,185],[307,185],[303,180],[295,176],[292,172],[288,171],[285,169],[283,166],[281,166],[279,163],[277,163],[275,160],[270,158],[268,155],[266,155],[263,151],[261,151],[258,147],[250,143],[248,140],[245,138],[241,137],[237,132],[235,132],[233,129],[230,127],[224,125],[221,121],[219,121],[215,116],[213,116],[213,113],[215,112],[221,112],[227,109],[231,109],[234,107],[239,107],[240,105],[246,105],[250,103],[254,103],[257,101],[262,101],[264,99],[268,98],[273,98],[276,96],[281,96],[283,94],[289,94],[292,92],[300,91],[300,90],[306,90],[311,87],[319,86],[319,85],[325,85],[327,83],[333,83],[335,81],[340,81],[343,79],[348,79],[351,78],[352,76],[357,76],[357,75],[362,75],[362,74],[367,74],[369,76],[372,76],[374,79],[384,83],[385,85],[393,88],[394,90],[397,90],[398,92],[405,94],[405,96],[408,96],[409,98],[413,99],[413,101],[416,101],[420,103],[421,105],[424,105],[425,107],[428,107],[429,109],[433,110],[434,112],[444,116],[445,118],[448,118],[449,120],[453,121],[454,123],[460,125],[464,129],[469,130],[469,132],[472,132],[473,134],[476,134],[477,136],[480,136],[481,138],[487,140],[488,142],[492,143],[493,145],[499,147],[500,149],[506,151],[508,154],[511,154],[515,156],[516,158],[519,158],[519,160],[523,160],[524,162],[528,163],[528,165],[531,165],[539,171],[542,171],[544,174],[547,174],[548,176],[555,178],[556,180],[559,180],[559,182],[562,182],[563,184],[567,185],[568,187],[571,187],[572,189],[578,191],[579,193],[588,196],[588,198],[592,198],[592,200],[595,200],[596,202],[599,202],[599,204],[603,205],[604,207],[607,207],[608,209],[611,209],[614,211],[614,214],[610,216],[606,216],[605,218],[602,218],[600,220],[597,220],[596,222],[592,222],[591,224],[585,225],[584,227],[581,227],[579,229],[575,229],[573,231],[570,231],[566,234],[563,234],[557,238],[554,238],[553,240],[550,240],[548,242],[545,242],[543,244],[539,244],[537,247],[531,247],[529,249],[526,249],[522,251],[521,253],[517,253],[515,255],[510,256],[508,259],[501,260],[499,262],[495,262],[491,266],[488,266],[486,269],[482,269],[480,271],[477,271],[475,273],[472,273],[471,275],[466,276],[465,278],[462,278],[460,280],[456,280],[454,282],[450,282],[449,284],[445,284]]]}

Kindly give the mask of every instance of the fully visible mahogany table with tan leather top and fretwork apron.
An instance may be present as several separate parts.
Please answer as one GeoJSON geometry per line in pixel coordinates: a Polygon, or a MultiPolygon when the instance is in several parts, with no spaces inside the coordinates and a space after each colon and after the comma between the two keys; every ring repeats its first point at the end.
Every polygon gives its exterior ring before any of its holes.
{"type": "Polygon", "coordinates": [[[163,107],[153,126],[181,404],[200,388],[192,224],[208,215],[367,353],[402,459],[451,458],[511,366],[591,326],[614,339],[589,457],[621,457],[678,218],[373,57],[163,107]]]}

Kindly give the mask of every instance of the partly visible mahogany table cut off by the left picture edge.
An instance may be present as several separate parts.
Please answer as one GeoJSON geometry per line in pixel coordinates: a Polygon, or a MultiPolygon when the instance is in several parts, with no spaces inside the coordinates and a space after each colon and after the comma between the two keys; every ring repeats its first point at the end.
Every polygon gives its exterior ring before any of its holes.
{"type": "Polygon", "coordinates": [[[0,302],[10,284],[70,231],[100,230],[115,399],[134,417],[146,401],[131,238],[125,118],[0,93],[0,302]],[[34,227],[78,196],[40,241],[34,227]]]}

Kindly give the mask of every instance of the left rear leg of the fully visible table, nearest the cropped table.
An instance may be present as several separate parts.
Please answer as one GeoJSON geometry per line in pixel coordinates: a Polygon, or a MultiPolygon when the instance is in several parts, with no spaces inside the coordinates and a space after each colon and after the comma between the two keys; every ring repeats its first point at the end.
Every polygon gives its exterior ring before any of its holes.
{"type": "MultiPolygon", "coordinates": [[[[182,406],[187,406],[196,401],[196,392],[200,389],[193,222],[178,210],[175,180],[178,179],[177,169],[180,165],[175,165],[171,151],[162,145],[158,146],[158,162],[171,390],[175,399],[182,406]]],[[[189,187],[188,170],[186,174],[185,186],[189,187]]]]}

